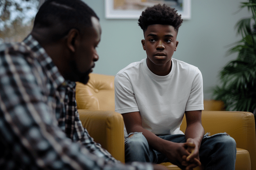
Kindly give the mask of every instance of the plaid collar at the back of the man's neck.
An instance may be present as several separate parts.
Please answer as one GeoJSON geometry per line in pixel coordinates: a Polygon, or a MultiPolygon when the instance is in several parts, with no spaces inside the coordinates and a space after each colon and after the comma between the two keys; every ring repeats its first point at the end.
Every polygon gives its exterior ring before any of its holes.
{"type": "Polygon", "coordinates": [[[58,88],[64,82],[64,77],[62,77],[57,66],[52,62],[51,57],[49,57],[44,48],[31,34],[23,40],[23,43],[35,54],[31,57],[38,60],[49,79],[52,80],[54,88],[58,88]]]}

